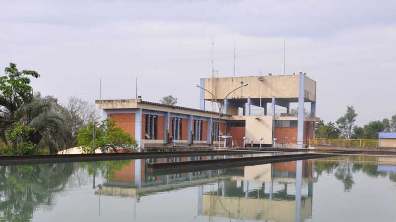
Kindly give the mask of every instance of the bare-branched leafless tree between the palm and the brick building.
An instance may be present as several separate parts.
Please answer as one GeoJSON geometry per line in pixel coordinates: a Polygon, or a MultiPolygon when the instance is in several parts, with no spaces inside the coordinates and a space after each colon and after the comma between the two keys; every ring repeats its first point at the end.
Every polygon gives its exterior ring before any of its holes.
{"type": "Polygon", "coordinates": [[[60,112],[65,116],[67,131],[70,140],[66,144],[66,148],[76,147],[77,131],[83,127],[87,127],[89,122],[99,119],[99,110],[94,104],[84,101],[77,97],[69,97],[66,104],[59,106],[60,112]]]}

